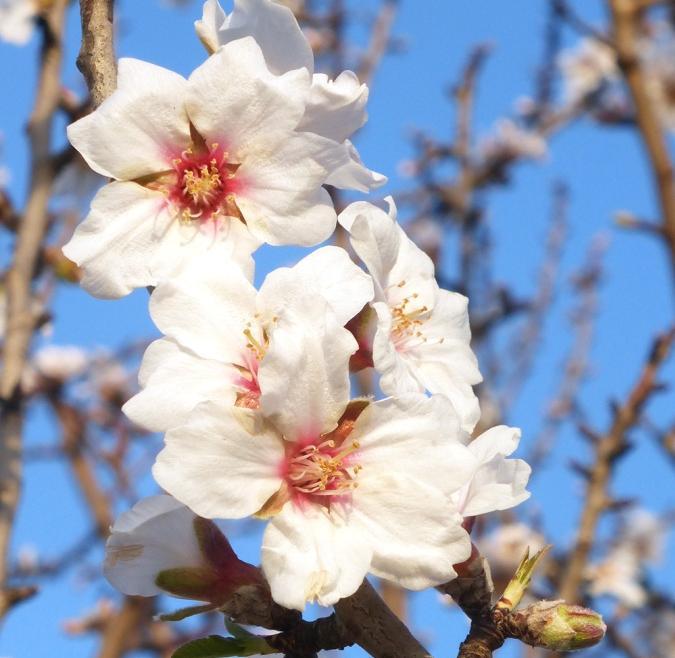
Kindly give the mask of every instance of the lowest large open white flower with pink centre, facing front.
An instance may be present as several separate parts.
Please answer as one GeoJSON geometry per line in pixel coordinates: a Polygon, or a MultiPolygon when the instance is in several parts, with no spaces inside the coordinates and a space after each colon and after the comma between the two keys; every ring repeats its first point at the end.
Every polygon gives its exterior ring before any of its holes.
{"type": "Polygon", "coordinates": [[[452,405],[422,395],[349,403],[353,345],[323,317],[305,335],[275,330],[260,372],[266,420],[203,403],[167,433],[153,468],[201,516],[270,518],[262,568],[274,599],[299,610],[350,596],[367,572],[438,585],[471,552],[450,497],[475,459],[456,439],[452,405]]]}

